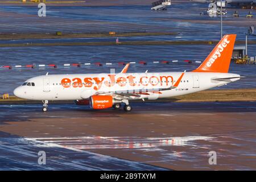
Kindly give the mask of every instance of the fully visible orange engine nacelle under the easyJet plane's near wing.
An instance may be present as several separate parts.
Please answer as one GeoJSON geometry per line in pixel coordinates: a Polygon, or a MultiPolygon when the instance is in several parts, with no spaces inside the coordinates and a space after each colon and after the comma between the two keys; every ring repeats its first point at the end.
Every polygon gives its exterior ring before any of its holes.
{"type": "Polygon", "coordinates": [[[107,109],[114,104],[112,96],[90,96],[90,107],[92,109],[107,109]]]}

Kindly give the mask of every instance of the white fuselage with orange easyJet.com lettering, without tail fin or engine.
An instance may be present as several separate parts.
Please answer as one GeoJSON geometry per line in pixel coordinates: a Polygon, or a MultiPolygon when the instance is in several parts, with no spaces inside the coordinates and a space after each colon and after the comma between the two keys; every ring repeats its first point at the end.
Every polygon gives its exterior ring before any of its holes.
{"type": "MultiPolygon", "coordinates": [[[[22,85],[14,90],[15,96],[28,100],[85,100],[94,94],[143,92],[146,89],[170,88],[182,72],[163,73],[110,73],[45,75],[28,79],[31,86],[22,85]],[[33,84],[32,84],[33,83],[33,84]],[[33,86],[32,86],[33,85],[33,86]]],[[[128,100],[164,98],[199,92],[237,81],[233,73],[186,72],[176,88],[159,93],[129,96],[128,100]],[[230,78],[216,81],[216,78],[230,78]],[[214,80],[215,79],[215,80],[214,80]]]]}

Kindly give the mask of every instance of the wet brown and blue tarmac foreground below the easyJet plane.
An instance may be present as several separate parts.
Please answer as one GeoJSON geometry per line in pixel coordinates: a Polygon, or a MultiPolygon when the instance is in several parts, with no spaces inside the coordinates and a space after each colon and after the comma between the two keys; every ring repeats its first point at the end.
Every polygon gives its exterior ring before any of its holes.
{"type": "Polygon", "coordinates": [[[256,169],[255,102],[133,106],[50,105],[42,113],[40,105],[1,105],[1,169],[256,169]]]}

